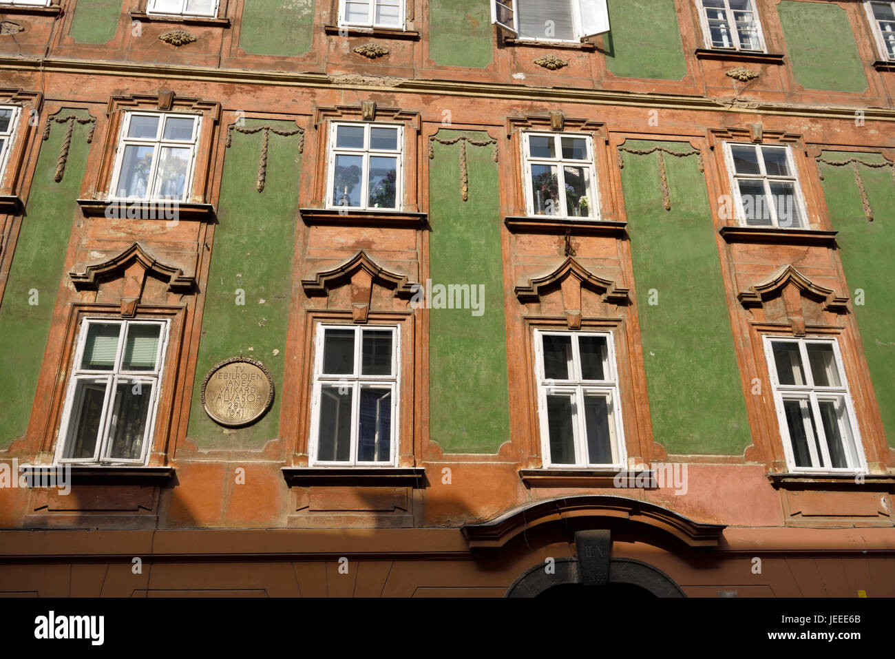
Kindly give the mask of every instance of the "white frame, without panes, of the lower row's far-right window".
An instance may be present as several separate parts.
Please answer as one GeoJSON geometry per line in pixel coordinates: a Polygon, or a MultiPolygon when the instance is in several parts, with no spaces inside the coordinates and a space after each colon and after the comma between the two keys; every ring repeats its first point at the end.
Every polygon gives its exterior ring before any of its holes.
{"type": "MultiPolygon", "coordinates": [[[[867,463],[864,452],[864,445],[861,441],[861,432],[857,426],[857,415],[855,413],[855,404],[851,397],[851,389],[848,387],[848,379],[846,378],[845,368],[840,353],[839,341],[836,338],[829,337],[805,337],[794,338],[779,335],[766,334],[763,336],[764,357],[768,364],[768,372],[771,376],[771,387],[773,389],[774,407],[777,410],[777,422],[780,426],[780,440],[783,442],[783,452],[786,455],[787,466],[790,472],[799,474],[866,474],[867,463]],[[774,360],[771,343],[794,343],[799,347],[799,355],[802,360],[802,371],[805,374],[805,385],[784,385],[780,384],[777,374],[777,363],[774,360]],[[808,361],[808,344],[823,344],[831,346],[835,357],[836,368],[839,369],[840,386],[839,387],[820,387],[814,385],[814,373],[811,371],[811,364],[808,361]],[[855,453],[857,455],[857,465],[848,467],[825,467],[824,464],[830,465],[830,445],[826,439],[826,434],[821,423],[820,408],[818,400],[830,400],[841,398],[846,407],[848,423],[851,424],[850,432],[855,441],[855,453]],[[805,436],[808,438],[808,450],[814,464],[822,466],[797,466],[795,452],[793,450],[792,438],[789,436],[789,426],[786,418],[786,410],[783,407],[784,400],[798,399],[807,403],[808,409],[803,409],[803,423],[805,424],[805,436]],[[805,416],[812,415],[812,419],[805,416]],[[814,432],[816,431],[816,435],[814,432]],[[815,446],[816,445],[816,446],[815,446]],[[817,455],[817,448],[821,449],[821,456],[817,455]]],[[[843,438],[848,436],[847,432],[840,432],[843,438]]],[[[843,447],[844,448],[844,447],[843,447]]],[[[845,451],[846,458],[848,450],[845,451]]]]}

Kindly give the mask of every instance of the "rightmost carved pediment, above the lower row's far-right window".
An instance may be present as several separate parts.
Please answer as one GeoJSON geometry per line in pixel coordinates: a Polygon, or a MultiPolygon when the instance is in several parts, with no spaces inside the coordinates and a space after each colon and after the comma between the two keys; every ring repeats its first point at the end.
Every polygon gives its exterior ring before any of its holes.
{"type": "Polygon", "coordinates": [[[794,334],[805,334],[805,322],[826,324],[823,312],[848,313],[848,295],[815,284],[792,265],[737,295],[746,309],[761,309],[763,321],[784,322],[794,334]]]}

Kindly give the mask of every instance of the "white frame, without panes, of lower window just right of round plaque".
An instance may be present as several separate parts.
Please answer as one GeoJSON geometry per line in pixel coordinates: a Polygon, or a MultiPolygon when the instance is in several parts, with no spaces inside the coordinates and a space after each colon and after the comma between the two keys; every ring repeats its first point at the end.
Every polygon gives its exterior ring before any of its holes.
{"type": "Polygon", "coordinates": [[[400,437],[398,426],[401,419],[401,326],[400,325],[342,325],[318,322],[314,335],[314,373],[313,389],[311,392],[311,433],[308,439],[308,465],[332,466],[332,467],[393,467],[397,466],[398,446],[400,437]],[[327,329],[351,329],[354,330],[354,374],[327,374],[323,372],[323,342],[327,329]],[[392,332],[392,375],[362,375],[362,330],[388,329],[392,332]],[[320,460],[318,454],[318,433],[320,430],[320,391],[322,385],[339,385],[352,389],[351,411],[351,450],[347,461],[320,460]],[[375,386],[380,388],[390,387],[392,390],[392,423],[390,444],[390,459],[388,462],[362,462],[357,459],[357,449],[360,433],[360,408],[362,386],[375,386]]]}

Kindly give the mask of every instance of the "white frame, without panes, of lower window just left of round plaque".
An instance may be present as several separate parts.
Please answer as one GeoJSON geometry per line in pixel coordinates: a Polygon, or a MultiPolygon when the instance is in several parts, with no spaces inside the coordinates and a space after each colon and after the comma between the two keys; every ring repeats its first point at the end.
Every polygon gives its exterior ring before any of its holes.
{"type": "Polygon", "coordinates": [[[110,318],[103,316],[91,316],[85,318],[81,322],[79,330],[78,345],[74,351],[74,361],[72,362],[72,372],[68,378],[68,389],[65,394],[65,406],[62,415],[62,423],[59,425],[59,434],[56,440],[55,464],[90,464],[90,465],[146,465],[149,461],[152,440],[156,432],[156,415],[158,413],[158,401],[161,398],[161,384],[165,373],[165,355],[167,354],[167,342],[171,321],[138,318],[134,320],[122,320],[120,318],[110,318]],[[81,360],[84,355],[84,347],[87,344],[87,335],[92,323],[101,323],[109,325],[120,325],[121,332],[118,335],[118,350],[115,354],[115,366],[111,371],[99,371],[81,369],[81,360]],[[158,325],[161,327],[161,336],[158,341],[158,355],[156,355],[156,370],[154,372],[146,371],[124,371],[121,368],[122,355],[124,354],[124,339],[127,336],[127,329],[131,325],[158,325]],[[69,443],[73,439],[73,433],[77,428],[77,419],[72,419],[72,415],[76,414],[75,410],[80,410],[80,406],[76,406],[75,394],[78,388],[78,381],[81,380],[101,380],[106,379],[106,398],[103,401],[102,420],[99,424],[98,441],[94,447],[93,458],[66,458],[69,443]],[[139,380],[147,382],[152,386],[152,398],[149,401],[149,415],[147,417],[146,428],[143,435],[142,455],[140,458],[109,458],[107,453],[111,449],[109,441],[109,425],[111,423],[111,415],[113,412],[112,401],[117,389],[117,383],[120,380],[139,380]]]}

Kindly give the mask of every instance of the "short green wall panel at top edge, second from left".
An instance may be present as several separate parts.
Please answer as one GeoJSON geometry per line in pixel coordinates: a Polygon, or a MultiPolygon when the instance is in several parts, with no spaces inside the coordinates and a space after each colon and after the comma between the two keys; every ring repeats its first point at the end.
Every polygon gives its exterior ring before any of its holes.
{"type": "Polygon", "coordinates": [[[251,0],[242,21],[239,47],[246,54],[302,56],[311,50],[314,0],[251,0]]]}

